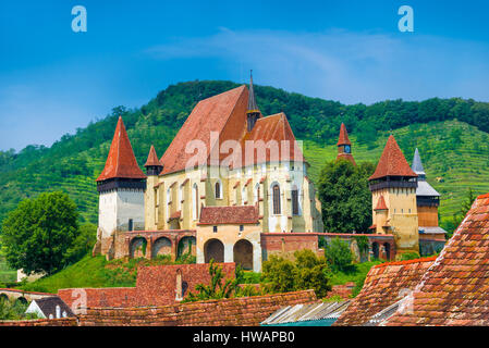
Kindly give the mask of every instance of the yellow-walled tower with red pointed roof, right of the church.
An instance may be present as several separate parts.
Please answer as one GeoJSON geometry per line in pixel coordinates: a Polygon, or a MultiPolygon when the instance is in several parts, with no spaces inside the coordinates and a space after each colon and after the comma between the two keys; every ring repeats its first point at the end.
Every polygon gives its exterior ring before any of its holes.
{"type": "Polygon", "coordinates": [[[369,177],[369,187],[372,192],[371,229],[377,234],[394,235],[396,254],[419,252],[417,178],[391,135],[369,177]]]}

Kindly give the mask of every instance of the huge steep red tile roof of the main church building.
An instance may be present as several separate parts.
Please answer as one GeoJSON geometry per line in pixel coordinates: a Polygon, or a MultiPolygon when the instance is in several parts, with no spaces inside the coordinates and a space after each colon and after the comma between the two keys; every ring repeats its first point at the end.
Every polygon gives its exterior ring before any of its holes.
{"type": "MultiPolygon", "coordinates": [[[[261,147],[266,146],[270,140],[276,140],[279,149],[279,160],[289,158],[291,161],[295,159],[304,162],[303,153],[298,148],[284,113],[260,117],[257,120],[253,130],[247,132],[246,110],[248,94],[248,89],[243,85],[198,102],[161,158],[160,163],[164,166],[161,174],[183,171],[186,165],[196,165],[196,163],[190,163],[188,160],[195,160],[194,156],[197,153],[197,150],[193,153],[185,152],[185,148],[191,140],[200,140],[206,147],[207,153],[198,159],[199,163],[218,164],[210,163],[215,159],[215,156],[211,156],[211,153],[218,149],[218,145],[221,146],[225,140],[235,140],[242,146],[241,153],[232,153],[242,156],[241,160],[233,161],[232,165],[234,167],[240,166],[240,162],[242,165],[245,165],[246,140],[261,140],[264,141],[261,147]],[[219,134],[219,144],[216,138],[210,139],[211,132],[219,134]],[[286,151],[282,151],[282,140],[289,140],[290,148],[286,151]]],[[[255,142],[255,145],[259,146],[260,144],[255,142]]],[[[258,158],[257,152],[255,150],[253,164],[262,162],[258,158]]],[[[270,149],[264,149],[264,153],[266,153],[266,161],[270,161],[270,149]]],[[[230,156],[230,153],[217,154],[216,160],[219,161],[228,159],[230,156]]]]}

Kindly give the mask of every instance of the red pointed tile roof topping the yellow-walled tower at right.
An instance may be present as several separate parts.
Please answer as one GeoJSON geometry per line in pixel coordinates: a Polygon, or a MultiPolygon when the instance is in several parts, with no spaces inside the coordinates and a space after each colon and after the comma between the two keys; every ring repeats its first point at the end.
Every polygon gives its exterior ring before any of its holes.
{"type": "Polygon", "coordinates": [[[384,176],[417,176],[409,164],[407,164],[393,135],[387,140],[379,164],[377,164],[377,169],[369,179],[371,181],[384,176]]]}

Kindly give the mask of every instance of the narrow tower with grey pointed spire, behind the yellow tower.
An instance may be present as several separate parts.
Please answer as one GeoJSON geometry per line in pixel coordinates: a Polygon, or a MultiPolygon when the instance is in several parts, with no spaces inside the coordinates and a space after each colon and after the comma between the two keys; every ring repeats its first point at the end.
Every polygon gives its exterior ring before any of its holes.
{"type": "Polygon", "coordinates": [[[426,181],[419,150],[414,151],[411,169],[418,175],[416,204],[418,211],[419,234],[444,238],[445,231],[438,225],[438,207],[440,194],[426,181]]]}

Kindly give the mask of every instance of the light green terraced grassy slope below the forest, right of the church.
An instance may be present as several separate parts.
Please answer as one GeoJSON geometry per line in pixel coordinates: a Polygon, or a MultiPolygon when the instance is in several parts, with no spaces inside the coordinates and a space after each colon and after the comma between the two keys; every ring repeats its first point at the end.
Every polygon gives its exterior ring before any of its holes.
{"type": "MultiPolygon", "coordinates": [[[[419,148],[428,182],[441,194],[441,221],[451,219],[460,210],[469,187],[476,194],[489,192],[489,144],[485,132],[457,121],[416,124],[393,132],[407,161],[412,162],[414,149],[419,148]],[[461,141],[454,141],[453,129],[461,129],[461,141]],[[477,144],[477,145],[476,145],[477,144]],[[438,183],[437,177],[443,177],[438,183]]],[[[356,142],[350,137],[356,162],[377,162],[387,142],[388,134],[379,135],[375,147],[356,142]]],[[[311,167],[309,175],[317,181],[325,162],[337,157],[335,146],[319,147],[305,141],[304,153],[311,167]]]]}

